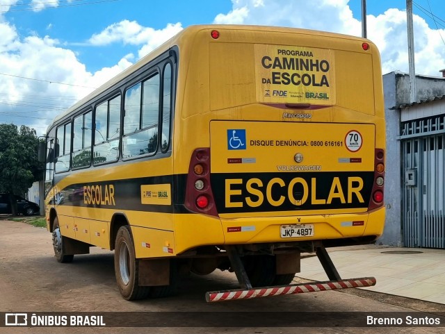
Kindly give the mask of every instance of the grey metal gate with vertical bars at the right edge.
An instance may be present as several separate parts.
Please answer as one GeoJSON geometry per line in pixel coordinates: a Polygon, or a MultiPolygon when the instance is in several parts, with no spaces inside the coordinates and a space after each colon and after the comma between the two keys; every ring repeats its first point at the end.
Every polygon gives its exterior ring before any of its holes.
{"type": "Polygon", "coordinates": [[[440,115],[403,124],[405,247],[445,249],[444,120],[440,115]]]}

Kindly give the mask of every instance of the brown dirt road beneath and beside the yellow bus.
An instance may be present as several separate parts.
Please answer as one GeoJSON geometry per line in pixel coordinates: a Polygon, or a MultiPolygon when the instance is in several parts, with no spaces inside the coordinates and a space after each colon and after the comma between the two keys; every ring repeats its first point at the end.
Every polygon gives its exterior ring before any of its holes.
{"type": "MultiPolygon", "coordinates": [[[[375,292],[317,292],[211,304],[204,300],[207,291],[237,287],[234,274],[215,272],[191,276],[181,283],[181,293],[176,297],[125,301],[115,283],[113,252],[94,247],[90,255],[75,256],[72,263],[61,264],[54,258],[51,233],[44,228],[0,220],[0,312],[126,312],[124,315],[136,322],[138,317],[149,315],[151,327],[143,329],[145,333],[296,333],[297,328],[289,327],[290,318],[309,311],[314,313],[307,317],[321,317],[323,328],[306,327],[302,333],[382,333],[385,328],[341,327],[354,315],[348,312],[360,312],[355,318],[358,315],[365,319],[370,312],[422,310],[435,317],[437,312],[445,311],[439,304],[389,298],[375,292]],[[329,313],[323,312],[339,312],[331,327],[326,327],[323,319],[329,313]],[[239,322],[240,318],[231,315],[241,315],[241,320],[249,317],[248,325],[244,322],[243,326],[234,327],[232,321],[239,322]],[[289,321],[284,315],[289,316],[289,321]],[[273,321],[272,325],[264,325],[266,318],[273,321]],[[158,319],[159,324],[153,327],[153,321],[158,319]],[[264,327],[258,328],[260,324],[264,327]]],[[[122,314],[115,313],[120,319],[122,314]]],[[[141,329],[0,327],[0,333],[141,333],[141,329]]],[[[389,333],[443,331],[444,327],[392,327],[389,333]]]]}

